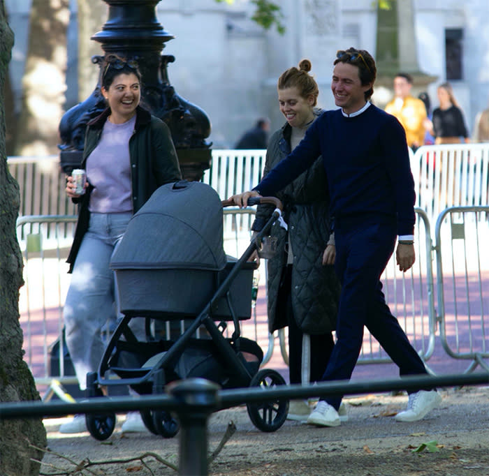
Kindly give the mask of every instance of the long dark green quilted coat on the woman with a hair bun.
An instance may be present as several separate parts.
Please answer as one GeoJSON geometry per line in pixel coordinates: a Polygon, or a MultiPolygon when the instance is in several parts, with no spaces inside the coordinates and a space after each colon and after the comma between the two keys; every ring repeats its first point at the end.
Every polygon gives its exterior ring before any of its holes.
{"type": "MultiPolygon", "coordinates": [[[[316,115],[319,112],[316,112],[316,115]]],[[[291,149],[291,126],[285,124],[268,144],[265,176],[291,149]]],[[[328,186],[321,157],[311,168],[283,188],[277,197],[284,204],[284,219],[289,225],[293,265],[290,290],[281,288],[286,267],[287,232],[278,223],[270,235],[277,237],[277,255],[268,260],[268,329],[274,332],[287,325],[286,316],[277,312],[291,292],[295,322],[307,334],[326,334],[336,327],[340,283],[333,266],[323,266],[323,251],[330,235],[328,186]]],[[[273,207],[259,205],[253,230],[259,231],[270,218],[273,207]]]]}

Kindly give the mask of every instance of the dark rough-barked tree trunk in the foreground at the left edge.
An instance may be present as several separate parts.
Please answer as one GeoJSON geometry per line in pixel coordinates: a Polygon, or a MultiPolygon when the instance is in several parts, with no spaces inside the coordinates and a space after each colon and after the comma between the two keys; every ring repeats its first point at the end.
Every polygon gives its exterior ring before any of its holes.
{"type": "MultiPolygon", "coordinates": [[[[13,46],[13,32],[6,21],[0,0],[0,91],[3,91],[13,46]]],[[[5,112],[0,96],[0,401],[38,400],[34,378],[22,360],[22,329],[19,325],[19,289],[22,280],[22,253],[17,242],[15,220],[20,195],[17,182],[8,172],[5,153],[5,112]]],[[[0,419],[0,474],[37,475],[46,432],[41,419],[0,419]]]]}

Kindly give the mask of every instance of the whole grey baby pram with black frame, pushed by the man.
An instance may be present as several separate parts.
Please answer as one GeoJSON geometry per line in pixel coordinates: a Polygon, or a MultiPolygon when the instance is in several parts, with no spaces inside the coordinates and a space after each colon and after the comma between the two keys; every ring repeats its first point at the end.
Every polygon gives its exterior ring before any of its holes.
{"type": "MultiPolygon", "coordinates": [[[[276,199],[254,199],[254,204],[260,200],[276,199]]],[[[102,396],[101,387],[113,385],[129,385],[141,395],[158,394],[169,382],[191,377],[207,378],[225,389],[285,384],[277,371],[259,370],[260,346],[240,335],[240,320],[251,317],[256,264],[248,258],[279,210],[240,259],[230,260],[223,248],[222,211],[230,204],[206,184],[180,181],[161,186],[131,218],[110,264],[124,317],[98,373],[87,375],[88,396],[102,396]],[[143,338],[130,326],[131,320],[141,319],[143,338]],[[168,337],[168,324],[182,320],[187,322],[183,334],[168,337]],[[228,322],[233,322],[231,337],[224,332],[228,322]],[[155,330],[162,325],[166,335],[155,330]]],[[[249,403],[247,410],[258,429],[275,431],[286,419],[289,401],[249,403]]],[[[179,429],[166,411],[140,413],[154,434],[170,438],[179,429]]],[[[105,440],[114,430],[115,413],[90,414],[86,422],[94,438],[105,440]]]]}

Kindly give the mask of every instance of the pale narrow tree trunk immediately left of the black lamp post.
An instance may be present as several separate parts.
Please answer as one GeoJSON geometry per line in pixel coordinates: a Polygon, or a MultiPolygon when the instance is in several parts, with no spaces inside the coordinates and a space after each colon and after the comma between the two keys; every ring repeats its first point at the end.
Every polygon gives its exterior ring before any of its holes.
{"type": "Polygon", "coordinates": [[[108,6],[102,0],[78,0],[78,100],[85,101],[98,82],[98,66],[92,64],[95,55],[103,56],[100,43],[90,40],[101,31],[107,19],[108,6]]]}

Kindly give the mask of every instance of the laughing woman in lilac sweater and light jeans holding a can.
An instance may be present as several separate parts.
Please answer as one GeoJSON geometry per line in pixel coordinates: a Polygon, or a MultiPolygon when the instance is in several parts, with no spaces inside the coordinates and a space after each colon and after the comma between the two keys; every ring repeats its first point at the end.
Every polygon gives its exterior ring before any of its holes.
{"type": "MultiPolygon", "coordinates": [[[[80,204],[68,255],[71,285],[64,306],[66,344],[80,389],[103,355],[101,330],[117,314],[110,258],[131,216],[163,184],[181,179],[170,130],[139,105],[140,73],[133,61],[110,56],[102,69],[101,92],[108,107],[87,125],[82,194],[67,177],[66,194],[80,204]]],[[[60,431],[86,431],[85,418],[60,431]]]]}

